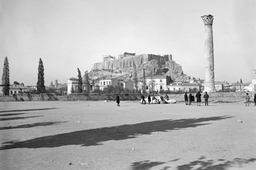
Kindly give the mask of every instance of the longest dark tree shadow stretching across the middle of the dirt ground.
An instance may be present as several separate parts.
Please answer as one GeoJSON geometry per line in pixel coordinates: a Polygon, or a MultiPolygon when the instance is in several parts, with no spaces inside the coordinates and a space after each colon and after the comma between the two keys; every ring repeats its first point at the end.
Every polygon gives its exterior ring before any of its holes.
{"type": "Polygon", "coordinates": [[[79,130],[52,136],[38,137],[26,141],[5,142],[3,143],[5,145],[0,147],[0,150],[12,148],[52,148],[65,145],[102,145],[102,142],[109,140],[131,139],[139,137],[140,135],[149,135],[153,132],[167,132],[170,130],[193,128],[210,124],[202,122],[217,121],[232,117],[233,116],[215,116],[199,119],[159,120],[98,129],[79,130]]]}

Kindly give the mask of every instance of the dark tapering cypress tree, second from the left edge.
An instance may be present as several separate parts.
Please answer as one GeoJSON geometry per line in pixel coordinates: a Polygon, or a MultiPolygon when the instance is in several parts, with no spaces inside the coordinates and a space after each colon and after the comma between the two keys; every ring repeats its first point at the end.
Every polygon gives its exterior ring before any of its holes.
{"type": "Polygon", "coordinates": [[[44,65],[43,61],[40,58],[38,64],[38,74],[37,74],[37,83],[36,83],[37,93],[44,93],[45,86],[44,86],[44,65]]]}

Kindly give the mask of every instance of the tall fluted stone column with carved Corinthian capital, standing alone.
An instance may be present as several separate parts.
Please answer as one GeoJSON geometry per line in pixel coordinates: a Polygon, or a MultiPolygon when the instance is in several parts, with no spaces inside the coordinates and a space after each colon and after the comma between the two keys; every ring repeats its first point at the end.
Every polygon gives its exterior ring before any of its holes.
{"type": "Polygon", "coordinates": [[[212,39],[212,15],[204,15],[204,59],[205,59],[205,84],[203,92],[216,92],[214,87],[214,61],[212,39]]]}

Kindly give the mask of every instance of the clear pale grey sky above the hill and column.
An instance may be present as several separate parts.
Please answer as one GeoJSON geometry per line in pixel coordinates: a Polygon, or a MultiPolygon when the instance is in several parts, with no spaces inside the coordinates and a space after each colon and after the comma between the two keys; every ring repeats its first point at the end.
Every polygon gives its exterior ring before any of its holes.
{"type": "Polygon", "coordinates": [[[214,17],[215,81],[256,79],[255,0],[0,0],[0,75],[36,85],[67,83],[103,55],[172,54],[184,74],[205,78],[204,21],[214,17]]]}

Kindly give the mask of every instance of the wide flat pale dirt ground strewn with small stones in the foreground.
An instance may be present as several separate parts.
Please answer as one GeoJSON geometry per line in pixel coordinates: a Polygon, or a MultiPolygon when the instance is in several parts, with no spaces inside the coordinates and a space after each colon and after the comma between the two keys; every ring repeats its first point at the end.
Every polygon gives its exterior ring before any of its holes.
{"type": "Polygon", "coordinates": [[[1,102],[0,169],[256,169],[253,104],[120,105],[1,102]]]}

